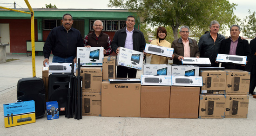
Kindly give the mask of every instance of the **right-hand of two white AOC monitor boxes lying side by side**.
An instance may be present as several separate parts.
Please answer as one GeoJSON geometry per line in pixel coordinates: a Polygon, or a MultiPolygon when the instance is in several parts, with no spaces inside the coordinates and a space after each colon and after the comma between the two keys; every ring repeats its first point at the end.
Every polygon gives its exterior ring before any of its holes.
{"type": "Polygon", "coordinates": [[[199,67],[194,65],[172,65],[172,76],[199,76],[199,67]]]}

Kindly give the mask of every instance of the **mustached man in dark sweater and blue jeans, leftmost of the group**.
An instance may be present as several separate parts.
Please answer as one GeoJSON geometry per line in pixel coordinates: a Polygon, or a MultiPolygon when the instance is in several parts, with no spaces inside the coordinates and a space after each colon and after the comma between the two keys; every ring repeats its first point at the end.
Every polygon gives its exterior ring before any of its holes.
{"type": "Polygon", "coordinates": [[[64,14],[62,17],[63,26],[55,27],[48,35],[43,47],[44,61],[49,63],[51,52],[54,55],[52,62],[57,63],[74,63],[76,62],[76,47],[83,47],[81,33],[72,26],[73,18],[71,14],[64,14]]]}

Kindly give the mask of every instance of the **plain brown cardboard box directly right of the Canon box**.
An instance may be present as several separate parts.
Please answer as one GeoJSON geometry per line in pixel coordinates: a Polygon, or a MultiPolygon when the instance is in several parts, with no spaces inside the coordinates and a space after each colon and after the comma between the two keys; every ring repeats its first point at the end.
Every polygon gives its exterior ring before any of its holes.
{"type": "Polygon", "coordinates": [[[170,86],[141,86],[141,117],[169,117],[170,86]]]}

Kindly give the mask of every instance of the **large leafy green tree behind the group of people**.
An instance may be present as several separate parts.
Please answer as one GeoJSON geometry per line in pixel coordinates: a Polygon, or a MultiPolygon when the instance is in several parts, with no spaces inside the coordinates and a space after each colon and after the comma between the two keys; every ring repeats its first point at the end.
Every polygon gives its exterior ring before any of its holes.
{"type": "Polygon", "coordinates": [[[135,12],[153,26],[170,26],[174,38],[178,39],[182,25],[193,26],[196,36],[209,30],[212,20],[229,26],[235,20],[233,9],[237,4],[230,4],[228,0],[109,0],[108,6],[135,12]]]}

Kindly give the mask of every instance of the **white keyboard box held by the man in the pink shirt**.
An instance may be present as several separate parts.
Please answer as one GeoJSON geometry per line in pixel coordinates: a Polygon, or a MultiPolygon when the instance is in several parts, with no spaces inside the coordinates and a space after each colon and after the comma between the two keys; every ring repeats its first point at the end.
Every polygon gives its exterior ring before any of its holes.
{"type": "Polygon", "coordinates": [[[218,54],[216,62],[224,63],[234,63],[246,65],[247,56],[238,56],[238,55],[228,55],[228,54],[218,54]]]}

